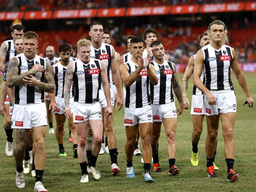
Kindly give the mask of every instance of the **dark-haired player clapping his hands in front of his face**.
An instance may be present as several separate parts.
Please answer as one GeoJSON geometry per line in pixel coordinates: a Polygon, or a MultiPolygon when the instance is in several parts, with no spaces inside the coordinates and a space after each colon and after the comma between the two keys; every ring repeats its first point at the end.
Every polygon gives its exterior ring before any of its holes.
{"type": "Polygon", "coordinates": [[[125,110],[124,126],[126,130],[127,143],[125,153],[127,160],[127,177],[135,177],[133,171],[133,152],[138,128],[140,128],[143,145],[144,159],[144,181],[152,183],[154,180],[150,176],[152,149],[150,145],[152,134],[152,110],[149,97],[149,81],[157,85],[158,79],[155,75],[155,68],[149,63],[147,58],[142,58],[144,50],[143,39],[133,37],[131,39],[132,58],[120,65],[119,71],[121,80],[125,85],[125,110]]]}

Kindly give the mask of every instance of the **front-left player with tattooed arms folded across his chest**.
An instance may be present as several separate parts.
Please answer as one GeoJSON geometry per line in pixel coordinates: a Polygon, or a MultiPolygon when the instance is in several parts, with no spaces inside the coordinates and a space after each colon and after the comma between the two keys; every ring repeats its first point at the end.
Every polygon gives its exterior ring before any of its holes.
{"type": "Polygon", "coordinates": [[[22,160],[26,149],[28,132],[32,127],[34,163],[36,168],[35,191],[47,191],[41,183],[45,167],[45,132],[47,113],[44,91],[53,93],[54,80],[50,74],[50,64],[36,54],[38,35],[26,32],[23,36],[23,50],[9,62],[6,83],[14,86],[15,106],[11,117],[11,128],[15,129],[16,147],[14,158],[17,167],[16,186],[25,187],[22,160]]]}

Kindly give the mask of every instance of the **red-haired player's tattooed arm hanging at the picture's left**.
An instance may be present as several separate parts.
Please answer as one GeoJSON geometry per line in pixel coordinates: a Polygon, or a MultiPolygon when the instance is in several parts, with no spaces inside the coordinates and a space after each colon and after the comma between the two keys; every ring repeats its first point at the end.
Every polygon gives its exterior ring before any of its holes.
{"type": "Polygon", "coordinates": [[[71,110],[69,108],[69,99],[70,99],[70,88],[73,81],[73,69],[74,63],[71,62],[67,65],[66,75],[65,75],[65,84],[64,84],[64,103],[65,103],[65,110],[64,114],[69,118],[71,110]]]}

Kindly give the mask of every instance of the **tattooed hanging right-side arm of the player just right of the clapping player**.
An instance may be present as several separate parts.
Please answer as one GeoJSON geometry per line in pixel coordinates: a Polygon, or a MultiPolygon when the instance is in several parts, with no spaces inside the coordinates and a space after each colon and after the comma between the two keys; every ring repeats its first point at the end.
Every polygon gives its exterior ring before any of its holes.
{"type": "Polygon", "coordinates": [[[173,85],[174,93],[179,101],[179,106],[177,108],[177,116],[179,116],[183,112],[183,98],[182,98],[181,88],[179,86],[178,77],[176,74],[176,65],[174,63],[173,63],[173,67],[174,67],[174,75],[172,79],[172,85],[173,85]]]}

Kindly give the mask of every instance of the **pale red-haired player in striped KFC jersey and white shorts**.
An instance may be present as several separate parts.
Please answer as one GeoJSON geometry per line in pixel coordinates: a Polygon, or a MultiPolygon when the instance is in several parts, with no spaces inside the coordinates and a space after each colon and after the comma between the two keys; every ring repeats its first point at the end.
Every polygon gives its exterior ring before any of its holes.
{"type": "Polygon", "coordinates": [[[105,116],[112,116],[110,89],[105,65],[102,61],[90,58],[90,41],[80,39],[77,42],[79,59],[69,63],[65,75],[64,86],[64,114],[70,117],[70,87],[75,85],[75,98],[73,107],[73,118],[78,136],[77,155],[82,171],[81,183],[88,183],[88,171],[86,162],[86,135],[87,127],[90,125],[93,132],[92,156],[88,161],[88,166],[92,170],[92,175],[96,180],[100,179],[100,173],[96,166],[96,160],[101,149],[103,122],[101,105],[99,104],[99,88],[101,82],[107,107],[105,116]]]}

